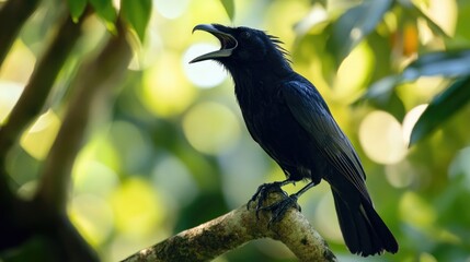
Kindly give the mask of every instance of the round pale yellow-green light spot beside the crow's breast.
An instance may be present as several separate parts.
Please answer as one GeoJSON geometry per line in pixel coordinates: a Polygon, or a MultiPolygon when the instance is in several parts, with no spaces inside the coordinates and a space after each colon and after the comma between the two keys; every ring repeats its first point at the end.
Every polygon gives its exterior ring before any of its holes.
{"type": "Polygon", "coordinates": [[[234,114],[213,102],[192,108],[184,116],[183,131],[190,144],[206,154],[221,154],[236,145],[240,138],[234,114]]]}

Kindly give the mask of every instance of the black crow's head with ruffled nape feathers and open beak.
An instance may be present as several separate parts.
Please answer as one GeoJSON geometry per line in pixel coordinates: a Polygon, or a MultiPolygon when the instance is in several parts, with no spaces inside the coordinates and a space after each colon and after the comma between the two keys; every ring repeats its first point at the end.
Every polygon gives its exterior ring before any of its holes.
{"type": "Polygon", "coordinates": [[[275,36],[267,35],[263,31],[249,27],[228,27],[219,24],[199,24],[194,31],[205,31],[220,40],[220,49],[205,53],[191,62],[216,60],[229,69],[231,66],[257,64],[257,63],[288,63],[287,53],[278,44],[275,36]]]}

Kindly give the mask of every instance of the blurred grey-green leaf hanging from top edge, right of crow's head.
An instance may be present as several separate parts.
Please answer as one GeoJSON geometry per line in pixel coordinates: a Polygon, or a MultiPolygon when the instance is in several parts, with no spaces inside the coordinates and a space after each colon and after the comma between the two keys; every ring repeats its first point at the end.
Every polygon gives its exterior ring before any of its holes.
{"type": "Polygon", "coordinates": [[[337,64],[349,55],[389,11],[392,0],[369,0],[347,10],[333,25],[333,35],[328,46],[337,56],[337,64]]]}

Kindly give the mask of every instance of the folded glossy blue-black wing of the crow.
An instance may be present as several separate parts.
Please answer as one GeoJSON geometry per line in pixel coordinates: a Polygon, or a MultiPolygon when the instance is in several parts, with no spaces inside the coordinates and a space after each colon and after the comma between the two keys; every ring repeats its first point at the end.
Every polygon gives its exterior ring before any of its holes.
{"type": "Polygon", "coordinates": [[[280,90],[291,114],[310,134],[317,150],[371,202],[359,157],[313,85],[300,79],[283,83],[280,90]]]}

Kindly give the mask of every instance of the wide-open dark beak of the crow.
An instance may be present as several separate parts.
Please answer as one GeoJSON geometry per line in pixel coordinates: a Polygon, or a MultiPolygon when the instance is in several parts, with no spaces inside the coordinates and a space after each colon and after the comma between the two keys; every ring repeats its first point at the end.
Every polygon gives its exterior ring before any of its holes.
{"type": "Polygon", "coordinates": [[[220,47],[220,50],[211,51],[211,52],[205,53],[203,56],[199,56],[199,57],[191,60],[190,63],[200,62],[200,61],[208,60],[208,59],[230,57],[232,55],[233,49],[236,49],[238,46],[238,41],[233,36],[217,29],[211,24],[196,25],[193,28],[193,33],[195,31],[205,31],[205,32],[213,34],[215,37],[217,37],[220,40],[221,47],[220,47]]]}

